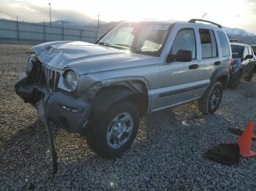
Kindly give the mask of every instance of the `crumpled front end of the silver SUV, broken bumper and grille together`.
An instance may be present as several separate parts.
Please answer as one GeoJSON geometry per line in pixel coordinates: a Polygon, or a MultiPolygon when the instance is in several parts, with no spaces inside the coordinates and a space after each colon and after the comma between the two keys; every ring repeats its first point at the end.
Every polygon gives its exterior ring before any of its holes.
{"type": "Polygon", "coordinates": [[[26,103],[37,107],[39,114],[72,133],[83,133],[91,111],[90,104],[73,93],[59,89],[61,71],[32,61],[31,71],[15,83],[15,91],[26,103]]]}

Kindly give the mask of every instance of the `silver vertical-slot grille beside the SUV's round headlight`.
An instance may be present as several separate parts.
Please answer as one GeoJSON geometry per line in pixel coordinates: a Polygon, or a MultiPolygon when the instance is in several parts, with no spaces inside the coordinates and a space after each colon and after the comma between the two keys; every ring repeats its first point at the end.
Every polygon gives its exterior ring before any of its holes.
{"type": "Polygon", "coordinates": [[[59,71],[42,66],[41,74],[44,74],[46,85],[48,86],[49,90],[52,93],[55,92],[58,87],[58,82],[60,77],[59,71]]]}

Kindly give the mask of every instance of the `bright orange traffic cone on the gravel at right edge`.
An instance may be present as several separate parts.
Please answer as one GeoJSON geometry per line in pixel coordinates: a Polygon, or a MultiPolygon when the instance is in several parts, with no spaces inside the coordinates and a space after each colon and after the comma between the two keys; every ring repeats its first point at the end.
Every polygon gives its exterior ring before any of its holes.
{"type": "Polygon", "coordinates": [[[238,139],[238,146],[240,149],[240,155],[242,157],[253,157],[256,156],[256,152],[252,149],[252,133],[253,133],[254,122],[249,120],[244,130],[244,133],[238,139]]]}

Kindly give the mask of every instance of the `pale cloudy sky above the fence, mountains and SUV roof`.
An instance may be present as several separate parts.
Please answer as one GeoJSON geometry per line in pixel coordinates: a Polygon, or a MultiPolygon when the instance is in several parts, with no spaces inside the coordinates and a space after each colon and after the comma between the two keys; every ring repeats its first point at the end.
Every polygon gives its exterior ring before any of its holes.
{"type": "Polygon", "coordinates": [[[256,34],[256,0],[0,0],[2,18],[39,22],[139,20],[143,18],[189,20],[204,17],[223,26],[256,34]]]}

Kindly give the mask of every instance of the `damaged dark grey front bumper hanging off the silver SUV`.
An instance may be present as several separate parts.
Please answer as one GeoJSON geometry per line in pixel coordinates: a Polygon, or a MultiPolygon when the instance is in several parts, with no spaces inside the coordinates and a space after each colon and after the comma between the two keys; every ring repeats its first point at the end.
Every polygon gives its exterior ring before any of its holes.
{"type": "Polygon", "coordinates": [[[85,133],[91,106],[82,98],[62,92],[51,93],[47,87],[28,84],[27,77],[16,82],[15,91],[26,103],[40,104],[37,109],[43,111],[39,114],[44,114],[59,127],[72,133],[85,133]]]}

